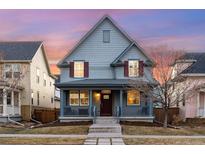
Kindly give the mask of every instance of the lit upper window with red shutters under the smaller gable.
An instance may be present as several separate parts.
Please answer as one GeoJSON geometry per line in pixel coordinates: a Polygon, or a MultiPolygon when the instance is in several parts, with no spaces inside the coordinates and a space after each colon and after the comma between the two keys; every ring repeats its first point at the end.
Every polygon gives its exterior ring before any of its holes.
{"type": "Polygon", "coordinates": [[[129,77],[139,76],[139,61],[138,60],[129,60],[129,77]]]}

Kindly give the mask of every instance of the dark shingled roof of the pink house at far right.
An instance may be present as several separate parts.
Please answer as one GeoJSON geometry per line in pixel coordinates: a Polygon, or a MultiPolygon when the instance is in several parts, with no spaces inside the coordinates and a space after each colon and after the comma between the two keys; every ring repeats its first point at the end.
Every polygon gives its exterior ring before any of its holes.
{"type": "Polygon", "coordinates": [[[181,74],[205,74],[205,53],[186,53],[180,60],[193,60],[193,64],[182,71],[181,74]]]}

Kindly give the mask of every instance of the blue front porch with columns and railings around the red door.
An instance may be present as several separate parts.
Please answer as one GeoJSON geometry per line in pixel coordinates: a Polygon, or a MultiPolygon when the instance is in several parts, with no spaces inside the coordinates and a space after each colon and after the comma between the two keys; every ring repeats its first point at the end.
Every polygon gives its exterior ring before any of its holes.
{"type": "MultiPolygon", "coordinates": [[[[73,97],[73,96],[72,96],[73,97]]],[[[127,103],[127,90],[114,88],[72,88],[61,89],[61,110],[60,121],[92,121],[97,117],[113,117],[120,121],[148,121],[153,122],[153,103],[150,97],[140,98],[139,104],[127,103]],[[72,93],[76,91],[75,93],[72,93]],[[77,94],[77,91],[79,94],[77,94]],[[83,96],[79,98],[84,103],[73,104],[70,98],[72,95],[83,96]],[[87,100],[88,103],[85,103],[87,100]]]]}

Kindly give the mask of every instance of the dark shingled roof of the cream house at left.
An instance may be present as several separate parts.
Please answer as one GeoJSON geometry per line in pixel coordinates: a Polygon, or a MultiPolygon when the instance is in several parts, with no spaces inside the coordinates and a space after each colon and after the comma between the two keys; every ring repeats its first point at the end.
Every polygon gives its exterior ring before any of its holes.
{"type": "Polygon", "coordinates": [[[5,61],[31,61],[41,44],[41,41],[0,42],[1,58],[5,61]]]}

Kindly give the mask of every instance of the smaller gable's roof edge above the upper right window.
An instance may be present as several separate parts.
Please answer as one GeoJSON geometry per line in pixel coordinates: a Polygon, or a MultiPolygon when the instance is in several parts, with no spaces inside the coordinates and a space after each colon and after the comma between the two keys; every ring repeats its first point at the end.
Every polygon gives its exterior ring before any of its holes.
{"type": "Polygon", "coordinates": [[[152,65],[155,64],[155,62],[148,57],[148,55],[143,51],[143,49],[136,43],[136,42],[132,42],[112,63],[111,65],[115,65],[119,62],[119,60],[133,47],[136,46],[143,54],[145,57],[147,57],[148,60],[150,60],[150,62],[152,63],[152,65]]]}

